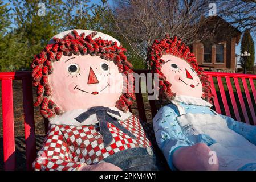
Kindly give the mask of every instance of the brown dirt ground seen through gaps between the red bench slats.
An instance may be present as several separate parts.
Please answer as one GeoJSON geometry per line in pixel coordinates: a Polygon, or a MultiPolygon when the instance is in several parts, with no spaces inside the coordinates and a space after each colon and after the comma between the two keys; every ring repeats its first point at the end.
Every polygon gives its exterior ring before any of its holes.
{"type": "MultiPolygon", "coordinates": [[[[36,98],[35,89],[33,90],[34,100],[36,98]]],[[[0,84],[0,97],[2,97],[2,88],[0,84]]],[[[144,96],[146,97],[146,96],[144,96]]],[[[2,100],[2,98],[1,98],[2,100]]],[[[26,170],[26,154],[25,154],[25,137],[23,125],[23,101],[22,101],[22,81],[13,81],[13,102],[14,102],[14,130],[15,130],[15,160],[18,170],[26,170]]],[[[148,102],[144,103],[147,120],[152,122],[151,111],[148,102]]],[[[132,106],[132,112],[136,115],[136,103],[132,106]]],[[[2,129],[2,101],[0,102],[0,171],[3,169],[3,129],[2,129]]],[[[44,139],[44,121],[39,114],[39,109],[34,108],[35,113],[35,133],[36,133],[36,148],[40,149],[44,139]]]]}

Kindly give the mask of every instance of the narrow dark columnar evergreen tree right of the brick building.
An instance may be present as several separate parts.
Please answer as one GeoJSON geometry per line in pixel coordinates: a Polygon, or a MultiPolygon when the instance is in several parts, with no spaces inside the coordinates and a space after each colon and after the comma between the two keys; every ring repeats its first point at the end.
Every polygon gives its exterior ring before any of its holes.
{"type": "Polygon", "coordinates": [[[249,71],[253,70],[254,60],[255,60],[255,49],[254,49],[254,41],[251,37],[250,31],[245,30],[243,34],[242,42],[241,42],[241,53],[247,51],[250,53],[250,56],[241,56],[241,65],[243,69],[247,69],[249,71]]]}

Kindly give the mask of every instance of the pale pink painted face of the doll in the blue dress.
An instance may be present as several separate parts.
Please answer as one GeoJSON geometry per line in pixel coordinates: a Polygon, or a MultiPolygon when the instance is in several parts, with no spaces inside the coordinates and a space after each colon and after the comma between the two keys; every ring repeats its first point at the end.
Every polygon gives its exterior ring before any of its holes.
{"type": "Polygon", "coordinates": [[[164,55],[161,59],[166,62],[161,71],[172,84],[173,93],[177,96],[202,97],[200,78],[189,63],[173,55],[164,55]]]}

